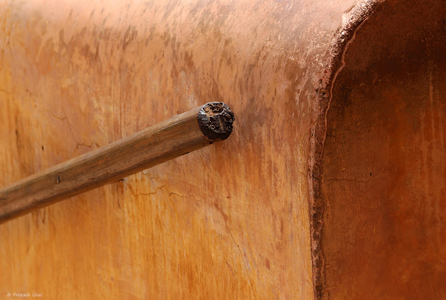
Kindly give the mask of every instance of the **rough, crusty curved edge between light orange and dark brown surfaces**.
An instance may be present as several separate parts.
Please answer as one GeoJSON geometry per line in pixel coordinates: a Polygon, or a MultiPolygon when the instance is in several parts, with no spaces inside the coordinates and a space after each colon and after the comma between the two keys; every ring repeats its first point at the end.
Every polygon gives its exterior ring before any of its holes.
{"type": "Polygon", "coordinates": [[[327,113],[332,100],[332,88],[337,74],[344,68],[344,56],[355,33],[376,6],[385,0],[360,1],[350,11],[344,13],[341,26],[334,35],[332,46],[325,56],[325,66],[318,77],[314,127],[311,132],[309,154],[309,219],[312,251],[314,299],[322,299],[325,289],[325,260],[321,245],[323,231],[324,202],[322,194],[322,159],[327,134],[327,113]]]}

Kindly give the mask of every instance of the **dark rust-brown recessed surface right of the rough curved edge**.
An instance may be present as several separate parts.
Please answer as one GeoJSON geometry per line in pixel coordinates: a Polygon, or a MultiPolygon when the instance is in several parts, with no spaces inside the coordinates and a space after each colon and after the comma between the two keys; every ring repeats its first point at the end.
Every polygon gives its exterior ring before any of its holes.
{"type": "Polygon", "coordinates": [[[446,299],[446,11],[388,1],[332,84],[323,299],[446,299]]]}

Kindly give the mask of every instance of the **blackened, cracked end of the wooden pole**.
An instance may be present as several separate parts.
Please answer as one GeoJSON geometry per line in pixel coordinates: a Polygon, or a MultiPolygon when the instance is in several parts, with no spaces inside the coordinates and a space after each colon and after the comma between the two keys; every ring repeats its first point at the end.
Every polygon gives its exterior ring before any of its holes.
{"type": "Polygon", "coordinates": [[[227,139],[231,135],[234,120],[234,113],[224,102],[206,103],[198,113],[201,132],[210,141],[227,139]]]}

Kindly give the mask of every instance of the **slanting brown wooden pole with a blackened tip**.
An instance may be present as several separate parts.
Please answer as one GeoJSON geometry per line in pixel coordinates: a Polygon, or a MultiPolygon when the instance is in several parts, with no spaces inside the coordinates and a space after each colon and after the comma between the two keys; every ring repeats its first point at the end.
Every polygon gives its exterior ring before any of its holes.
{"type": "Polygon", "coordinates": [[[0,223],[227,139],[234,115],[209,102],[0,189],[0,223]]]}

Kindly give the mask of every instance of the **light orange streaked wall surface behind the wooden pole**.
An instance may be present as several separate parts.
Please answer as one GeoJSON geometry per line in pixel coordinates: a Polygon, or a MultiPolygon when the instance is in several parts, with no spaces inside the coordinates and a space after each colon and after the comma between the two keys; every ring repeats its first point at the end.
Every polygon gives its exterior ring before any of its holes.
{"type": "Polygon", "coordinates": [[[354,3],[3,1],[1,186],[203,99],[243,118],[224,143],[2,224],[0,294],[313,299],[314,74],[354,3]]]}

